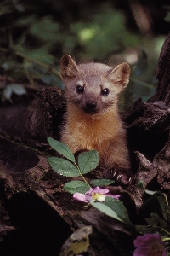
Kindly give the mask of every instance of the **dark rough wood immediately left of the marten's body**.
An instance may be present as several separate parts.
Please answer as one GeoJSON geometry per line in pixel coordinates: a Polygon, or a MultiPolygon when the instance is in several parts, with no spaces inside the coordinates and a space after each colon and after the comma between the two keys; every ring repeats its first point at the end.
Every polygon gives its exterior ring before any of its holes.
{"type": "Polygon", "coordinates": [[[15,141],[42,147],[47,137],[59,139],[59,125],[63,122],[65,99],[57,88],[43,89],[30,106],[2,107],[0,134],[15,141]]]}

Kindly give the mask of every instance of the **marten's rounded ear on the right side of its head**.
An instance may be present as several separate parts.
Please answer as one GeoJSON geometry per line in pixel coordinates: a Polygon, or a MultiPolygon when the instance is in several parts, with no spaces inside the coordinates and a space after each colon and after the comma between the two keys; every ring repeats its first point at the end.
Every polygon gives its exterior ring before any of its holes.
{"type": "Polygon", "coordinates": [[[126,62],[117,65],[109,74],[109,78],[116,85],[117,92],[121,92],[128,84],[130,67],[126,62]]]}

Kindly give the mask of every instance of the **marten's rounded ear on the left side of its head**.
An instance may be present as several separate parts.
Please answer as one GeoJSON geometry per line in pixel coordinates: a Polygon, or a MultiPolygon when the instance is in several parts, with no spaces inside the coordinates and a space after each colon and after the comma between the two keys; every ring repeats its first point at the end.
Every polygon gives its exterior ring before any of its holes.
{"type": "Polygon", "coordinates": [[[73,61],[70,55],[64,55],[60,62],[60,76],[61,79],[74,78],[80,73],[76,61],[73,61]]]}

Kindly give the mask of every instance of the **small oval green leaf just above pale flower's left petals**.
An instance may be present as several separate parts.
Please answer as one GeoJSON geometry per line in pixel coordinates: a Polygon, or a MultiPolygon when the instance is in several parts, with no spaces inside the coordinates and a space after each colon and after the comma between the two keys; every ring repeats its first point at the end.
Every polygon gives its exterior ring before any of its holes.
{"type": "Polygon", "coordinates": [[[74,193],[86,193],[90,188],[87,183],[82,181],[71,181],[70,183],[65,183],[64,188],[66,191],[70,192],[71,194],[74,193]]]}

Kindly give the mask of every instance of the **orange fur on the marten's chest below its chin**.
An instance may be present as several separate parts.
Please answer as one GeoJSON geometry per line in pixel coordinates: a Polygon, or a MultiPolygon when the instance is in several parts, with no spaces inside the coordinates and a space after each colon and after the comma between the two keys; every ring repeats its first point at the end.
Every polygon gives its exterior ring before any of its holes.
{"type": "Polygon", "coordinates": [[[116,113],[107,112],[97,119],[82,111],[69,110],[67,114],[63,141],[75,152],[78,148],[101,150],[101,146],[117,137],[122,130],[121,121],[116,113]]]}

